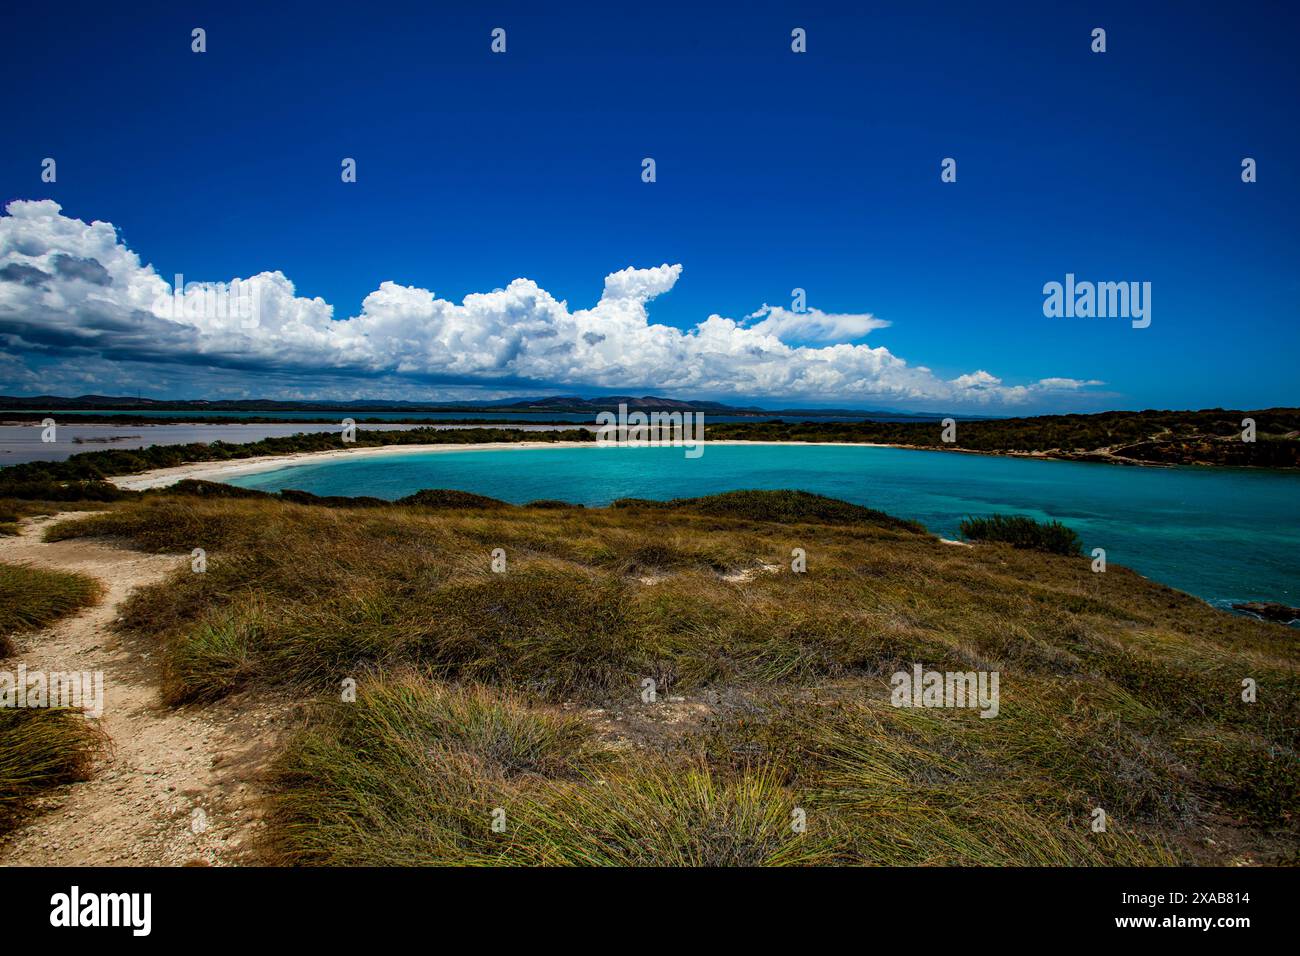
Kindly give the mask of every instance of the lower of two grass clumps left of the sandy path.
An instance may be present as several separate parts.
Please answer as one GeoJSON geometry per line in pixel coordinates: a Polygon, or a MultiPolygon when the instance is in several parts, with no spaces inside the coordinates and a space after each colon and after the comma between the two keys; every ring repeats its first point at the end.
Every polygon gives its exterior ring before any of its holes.
{"type": "Polygon", "coordinates": [[[64,709],[0,708],[0,834],[32,810],[32,800],[84,780],[104,745],[81,714],[64,709]]]}

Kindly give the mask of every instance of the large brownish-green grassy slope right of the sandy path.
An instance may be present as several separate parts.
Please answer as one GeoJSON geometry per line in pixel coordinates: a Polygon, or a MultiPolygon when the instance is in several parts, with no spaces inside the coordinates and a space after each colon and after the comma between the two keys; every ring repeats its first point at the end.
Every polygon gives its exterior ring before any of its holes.
{"type": "Polygon", "coordinates": [[[268,862],[1297,858],[1294,631],[1115,564],[796,492],[355,507],[187,483],[47,532],[98,536],[208,553],[122,607],[168,704],[307,701],[268,862]],[[998,672],[997,717],[894,706],[915,665],[998,672]]]}

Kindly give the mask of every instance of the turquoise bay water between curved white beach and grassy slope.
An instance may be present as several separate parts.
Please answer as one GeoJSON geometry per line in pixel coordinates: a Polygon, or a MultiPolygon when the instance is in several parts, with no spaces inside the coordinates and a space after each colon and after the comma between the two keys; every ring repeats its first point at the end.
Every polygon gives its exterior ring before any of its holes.
{"type": "Polygon", "coordinates": [[[1300,605],[1300,475],[1135,468],[888,447],[707,445],[406,453],[230,479],[243,488],[400,498],[456,488],[523,503],[679,498],[798,488],[913,518],[957,537],[967,515],[1058,519],[1086,550],[1213,604],[1300,605]]]}

